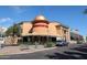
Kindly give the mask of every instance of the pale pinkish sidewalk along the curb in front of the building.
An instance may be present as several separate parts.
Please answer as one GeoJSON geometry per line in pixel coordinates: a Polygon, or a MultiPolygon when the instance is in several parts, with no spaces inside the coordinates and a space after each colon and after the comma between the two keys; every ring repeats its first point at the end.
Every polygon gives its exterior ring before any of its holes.
{"type": "Polygon", "coordinates": [[[45,50],[53,50],[56,47],[43,47],[43,48],[26,48],[26,50],[21,50],[20,46],[6,46],[0,50],[0,56],[1,55],[13,55],[13,54],[25,54],[25,53],[34,53],[34,52],[40,52],[40,51],[45,51],[45,50]]]}

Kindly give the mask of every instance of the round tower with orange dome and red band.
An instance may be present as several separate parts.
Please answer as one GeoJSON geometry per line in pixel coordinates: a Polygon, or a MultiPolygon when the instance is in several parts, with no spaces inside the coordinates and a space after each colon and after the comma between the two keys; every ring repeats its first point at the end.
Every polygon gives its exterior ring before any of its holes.
{"type": "Polygon", "coordinates": [[[47,34],[48,21],[43,15],[37,15],[33,24],[33,33],[47,34]]]}

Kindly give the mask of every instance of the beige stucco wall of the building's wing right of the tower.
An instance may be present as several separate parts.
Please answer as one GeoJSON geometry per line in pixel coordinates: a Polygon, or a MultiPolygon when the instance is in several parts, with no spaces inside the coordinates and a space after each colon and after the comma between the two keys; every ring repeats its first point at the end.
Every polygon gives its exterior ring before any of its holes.
{"type": "Polygon", "coordinates": [[[65,37],[66,41],[68,42],[70,41],[70,33],[69,33],[70,30],[59,25],[59,23],[56,23],[56,22],[50,23],[48,31],[51,35],[61,36],[62,39],[65,37]],[[64,30],[66,31],[66,33],[64,33],[64,30]]]}

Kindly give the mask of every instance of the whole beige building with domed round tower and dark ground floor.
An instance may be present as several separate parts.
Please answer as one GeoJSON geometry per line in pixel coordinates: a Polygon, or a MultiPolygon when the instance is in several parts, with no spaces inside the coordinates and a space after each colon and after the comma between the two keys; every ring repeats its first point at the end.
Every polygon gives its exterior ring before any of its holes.
{"type": "Polygon", "coordinates": [[[69,28],[46,20],[43,15],[37,15],[33,21],[20,23],[20,32],[24,42],[56,42],[57,40],[70,41],[69,28]]]}

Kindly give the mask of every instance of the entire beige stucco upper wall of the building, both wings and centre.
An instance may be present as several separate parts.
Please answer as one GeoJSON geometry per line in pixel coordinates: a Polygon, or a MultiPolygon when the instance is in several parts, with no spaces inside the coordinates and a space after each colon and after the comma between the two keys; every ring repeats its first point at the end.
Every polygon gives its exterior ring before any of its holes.
{"type": "Polygon", "coordinates": [[[22,35],[54,35],[54,36],[61,36],[61,37],[66,37],[67,41],[70,40],[70,34],[69,34],[69,29],[65,29],[59,23],[52,22],[48,24],[48,28],[45,26],[35,26],[33,29],[33,33],[29,33],[32,29],[31,23],[23,23],[22,24],[22,35]],[[57,28],[56,28],[57,26],[57,28]],[[66,33],[64,33],[64,30],[66,30],[66,33]]]}

